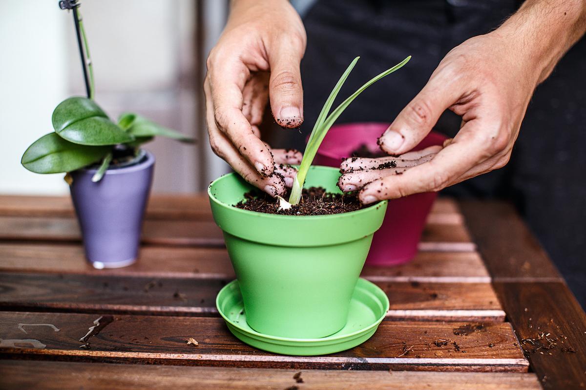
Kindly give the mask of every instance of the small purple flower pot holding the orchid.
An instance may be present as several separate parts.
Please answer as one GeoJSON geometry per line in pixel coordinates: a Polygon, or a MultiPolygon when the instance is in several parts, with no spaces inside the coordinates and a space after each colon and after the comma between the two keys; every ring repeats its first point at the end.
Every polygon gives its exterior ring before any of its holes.
{"type": "Polygon", "coordinates": [[[71,199],[94,268],[126,267],[137,260],[154,167],[155,157],[145,151],[138,163],[110,167],[96,183],[91,177],[97,169],[71,172],[71,199]]]}

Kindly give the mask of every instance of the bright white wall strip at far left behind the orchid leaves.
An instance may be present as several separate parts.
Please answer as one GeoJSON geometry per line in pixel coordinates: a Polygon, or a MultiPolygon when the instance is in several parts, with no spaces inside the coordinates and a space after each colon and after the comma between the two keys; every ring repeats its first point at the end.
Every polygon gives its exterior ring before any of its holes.
{"type": "Polygon", "coordinates": [[[0,192],[63,194],[63,174],[39,175],[22,153],[52,132],[53,108],[67,97],[67,12],[56,1],[0,2],[0,192]]]}

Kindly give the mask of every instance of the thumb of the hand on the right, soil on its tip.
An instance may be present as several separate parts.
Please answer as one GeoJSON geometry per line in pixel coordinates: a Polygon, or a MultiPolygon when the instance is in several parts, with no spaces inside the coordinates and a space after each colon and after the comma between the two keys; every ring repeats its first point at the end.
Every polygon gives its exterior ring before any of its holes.
{"type": "Polygon", "coordinates": [[[428,81],[379,138],[382,150],[393,155],[410,151],[427,136],[442,113],[458,100],[457,84],[444,83],[438,78],[428,81]]]}

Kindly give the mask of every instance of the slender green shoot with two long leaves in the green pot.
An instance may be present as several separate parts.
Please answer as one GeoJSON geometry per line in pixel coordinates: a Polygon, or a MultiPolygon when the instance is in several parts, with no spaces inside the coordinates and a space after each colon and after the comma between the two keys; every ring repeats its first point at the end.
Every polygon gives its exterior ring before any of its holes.
{"type": "Polygon", "coordinates": [[[394,65],[394,67],[387,69],[383,73],[372,78],[366,84],[362,85],[362,87],[358,88],[356,92],[350,95],[328,116],[328,113],[332,108],[333,101],[336,99],[336,96],[338,96],[338,92],[342,88],[342,85],[346,81],[346,78],[350,74],[350,71],[352,71],[352,68],[354,68],[354,66],[356,65],[359,58],[360,57],[354,58],[352,63],[350,63],[346,71],[342,74],[342,77],[340,77],[340,80],[338,80],[336,86],[333,88],[331,94],[328,96],[328,99],[323,105],[322,111],[319,113],[318,119],[315,121],[314,129],[311,131],[307,146],[305,147],[303,160],[301,160],[301,165],[299,165],[297,177],[295,177],[295,181],[293,182],[291,196],[289,196],[289,203],[291,203],[292,205],[297,205],[301,200],[301,191],[303,189],[305,177],[307,175],[307,172],[309,171],[309,167],[311,166],[311,163],[314,161],[315,154],[318,152],[319,149],[319,145],[321,145],[323,138],[326,136],[326,133],[328,133],[328,130],[330,129],[330,127],[332,127],[333,123],[336,122],[336,119],[338,119],[338,117],[342,115],[342,112],[347,108],[347,106],[349,106],[350,103],[352,103],[352,101],[356,99],[356,97],[364,91],[364,89],[370,87],[370,85],[379,81],[381,78],[403,67],[403,65],[407,64],[408,61],[411,59],[411,56],[408,56],[397,65],[394,65]]]}

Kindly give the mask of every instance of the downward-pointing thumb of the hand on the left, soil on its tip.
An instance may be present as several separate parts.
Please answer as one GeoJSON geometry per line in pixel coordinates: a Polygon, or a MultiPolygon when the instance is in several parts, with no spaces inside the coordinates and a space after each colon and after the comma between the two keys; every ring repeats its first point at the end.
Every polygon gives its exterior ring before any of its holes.
{"type": "Polygon", "coordinates": [[[303,123],[303,88],[301,87],[302,50],[295,50],[295,45],[277,45],[269,55],[271,79],[268,95],[271,111],[281,127],[299,127],[303,123]]]}

